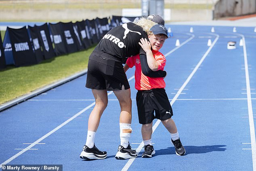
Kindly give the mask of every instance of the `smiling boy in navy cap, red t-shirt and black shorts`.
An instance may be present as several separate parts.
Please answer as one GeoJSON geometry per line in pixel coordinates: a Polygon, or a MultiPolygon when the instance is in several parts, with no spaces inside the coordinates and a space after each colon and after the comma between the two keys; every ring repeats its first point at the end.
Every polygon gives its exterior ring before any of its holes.
{"type": "MultiPolygon", "coordinates": [[[[146,52],[147,63],[152,71],[164,70],[166,58],[159,52],[159,49],[168,38],[166,27],[163,25],[154,25],[149,33],[149,42],[141,39],[139,43],[146,52]]],[[[165,92],[166,84],[164,78],[151,78],[145,76],[141,72],[141,64],[139,55],[128,58],[124,71],[135,65],[135,89],[138,90],[136,95],[136,103],[138,109],[138,119],[141,126],[141,134],[144,142],[145,151],[142,157],[148,158],[155,154],[153,143],[151,140],[153,119],[159,119],[165,128],[171,134],[171,141],[174,144],[177,155],[185,155],[185,148],[180,142],[176,125],[171,118],[172,107],[165,92]],[[155,112],[155,115],[154,115],[155,112]]]]}

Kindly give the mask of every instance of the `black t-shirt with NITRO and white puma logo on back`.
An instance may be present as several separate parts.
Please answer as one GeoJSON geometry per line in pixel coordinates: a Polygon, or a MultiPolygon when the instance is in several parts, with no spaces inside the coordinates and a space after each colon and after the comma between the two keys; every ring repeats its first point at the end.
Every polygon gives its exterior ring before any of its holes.
{"type": "Polygon", "coordinates": [[[146,55],[138,44],[142,37],[148,39],[142,27],[134,23],[125,23],[107,32],[95,50],[105,52],[125,62],[127,58],[136,54],[146,55]]]}

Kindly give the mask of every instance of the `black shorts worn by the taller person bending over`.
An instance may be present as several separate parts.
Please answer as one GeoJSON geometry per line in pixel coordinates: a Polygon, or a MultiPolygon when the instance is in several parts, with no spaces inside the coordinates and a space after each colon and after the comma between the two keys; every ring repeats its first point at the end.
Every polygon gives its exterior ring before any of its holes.
{"type": "Polygon", "coordinates": [[[122,61],[104,52],[92,52],[88,61],[86,87],[97,90],[130,89],[122,61]]]}

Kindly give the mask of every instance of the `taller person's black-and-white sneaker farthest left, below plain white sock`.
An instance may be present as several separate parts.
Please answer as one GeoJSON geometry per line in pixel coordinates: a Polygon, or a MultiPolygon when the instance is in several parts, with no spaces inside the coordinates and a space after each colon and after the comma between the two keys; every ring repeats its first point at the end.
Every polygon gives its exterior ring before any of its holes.
{"type": "Polygon", "coordinates": [[[93,160],[93,159],[105,159],[107,157],[107,152],[100,151],[95,144],[92,148],[84,145],[83,151],[80,154],[81,159],[93,160]]]}

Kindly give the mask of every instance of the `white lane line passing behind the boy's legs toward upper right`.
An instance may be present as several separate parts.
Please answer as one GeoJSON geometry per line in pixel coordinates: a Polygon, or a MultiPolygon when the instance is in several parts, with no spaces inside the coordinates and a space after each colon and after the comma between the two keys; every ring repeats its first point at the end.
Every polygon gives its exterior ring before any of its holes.
{"type": "MultiPolygon", "coordinates": [[[[195,72],[197,71],[197,69],[199,68],[199,66],[201,65],[201,63],[204,61],[204,59],[206,58],[206,56],[209,54],[210,50],[212,49],[212,47],[214,46],[214,44],[216,43],[216,41],[219,38],[219,35],[214,34],[214,33],[209,33],[211,35],[215,35],[216,38],[214,39],[212,45],[208,48],[208,50],[206,51],[206,53],[204,54],[204,56],[201,58],[201,60],[198,62],[198,64],[196,65],[195,69],[191,72],[191,74],[189,75],[189,77],[187,78],[187,80],[185,80],[185,82],[183,83],[183,85],[180,87],[180,89],[178,90],[178,92],[176,93],[176,95],[174,96],[174,98],[172,99],[172,101],[170,102],[171,105],[173,105],[173,103],[176,101],[176,99],[178,98],[178,96],[180,95],[180,93],[183,91],[183,89],[186,87],[186,85],[188,84],[188,82],[191,80],[192,76],[195,74],[195,72]]],[[[172,51],[173,52],[173,51],[172,51]]],[[[169,55],[169,54],[168,54],[169,55]]],[[[165,55],[167,56],[167,55],[165,55]]],[[[157,128],[157,126],[160,124],[160,120],[157,120],[155,122],[155,124],[153,125],[153,132],[155,131],[155,129],[157,128]]],[[[153,134],[152,132],[152,134],[153,134]]],[[[141,151],[141,148],[143,147],[143,141],[141,142],[141,144],[138,146],[138,148],[136,149],[136,152],[139,153],[141,151]]],[[[122,171],[127,171],[130,167],[130,165],[132,165],[133,161],[136,158],[132,158],[129,159],[128,162],[126,163],[126,165],[123,167],[122,171]]]]}

